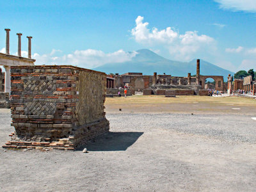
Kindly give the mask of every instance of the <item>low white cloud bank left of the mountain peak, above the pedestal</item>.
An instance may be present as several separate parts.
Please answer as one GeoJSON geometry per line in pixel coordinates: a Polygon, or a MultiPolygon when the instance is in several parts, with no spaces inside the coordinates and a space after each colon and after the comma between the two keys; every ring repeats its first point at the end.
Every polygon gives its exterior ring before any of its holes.
{"type": "MultiPolygon", "coordinates": [[[[137,52],[125,52],[122,49],[105,53],[95,49],[77,50],[71,54],[63,56],[54,56],[56,50],[52,50],[50,54],[33,54],[33,58],[38,65],[76,65],[77,67],[95,68],[106,63],[123,63],[130,61],[137,52]]],[[[58,50],[58,52],[61,52],[58,50]]]]}

